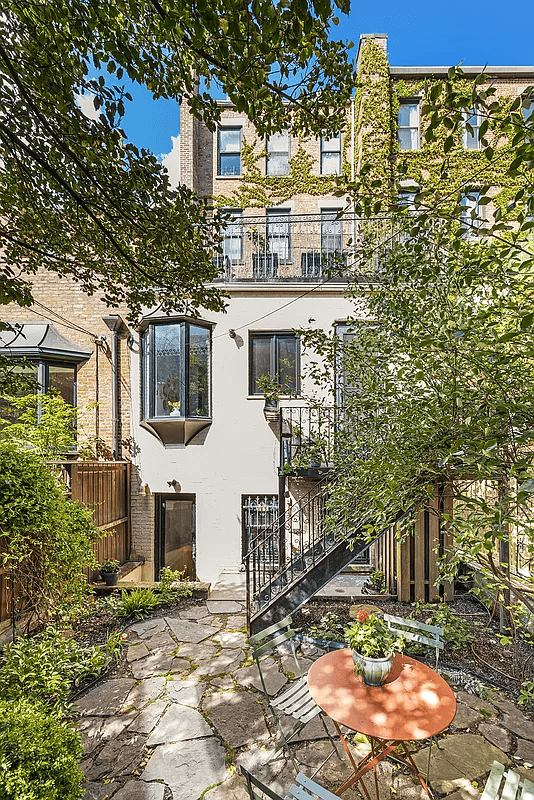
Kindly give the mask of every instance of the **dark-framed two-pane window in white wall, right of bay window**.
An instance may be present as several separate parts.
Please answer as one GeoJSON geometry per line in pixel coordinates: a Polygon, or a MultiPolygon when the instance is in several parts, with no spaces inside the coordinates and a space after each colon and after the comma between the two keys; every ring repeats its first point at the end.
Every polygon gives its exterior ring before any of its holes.
{"type": "Polygon", "coordinates": [[[300,391],[300,341],[294,333],[255,333],[249,339],[249,393],[263,395],[258,380],[276,378],[283,394],[300,391]]]}

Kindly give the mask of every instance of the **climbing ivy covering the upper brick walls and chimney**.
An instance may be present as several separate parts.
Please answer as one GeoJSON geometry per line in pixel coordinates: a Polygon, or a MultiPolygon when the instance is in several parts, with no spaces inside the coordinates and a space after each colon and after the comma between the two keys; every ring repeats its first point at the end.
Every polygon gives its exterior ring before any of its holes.
{"type": "MultiPolygon", "coordinates": [[[[499,116],[489,120],[487,136],[490,139],[494,137],[491,161],[482,150],[466,149],[460,132],[455,134],[454,145],[444,157],[444,143],[451,133],[445,124],[436,130],[432,142],[426,142],[422,135],[420,150],[400,149],[397,118],[401,98],[421,97],[423,104],[435,82],[428,77],[392,80],[385,50],[368,39],[363,42],[360,52],[354,98],[354,182],[351,182],[352,136],[347,114],[341,175],[318,175],[317,161],[306,151],[301,140],[289,160],[290,173],[287,176],[265,175],[265,149],[258,152],[257,140],[245,141],[242,149],[243,177],[239,188],[231,195],[218,195],[215,202],[220,206],[244,209],[266,208],[298,195],[340,196],[347,193],[361,202],[362,210],[379,213],[396,207],[399,182],[404,180],[429,191],[433,201],[439,201],[444,209],[456,205],[462,190],[478,185],[491,186],[492,202],[503,214],[513,217],[517,211],[509,209],[509,206],[525,179],[521,173],[514,177],[507,174],[511,163],[510,141],[502,133],[496,134],[500,119],[510,110],[514,100],[512,96],[500,98],[499,116]]],[[[465,91],[466,107],[469,107],[472,82],[460,80],[458,90],[465,91]]],[[[425,127],[423,117],[422,134],[425,127]]]]}

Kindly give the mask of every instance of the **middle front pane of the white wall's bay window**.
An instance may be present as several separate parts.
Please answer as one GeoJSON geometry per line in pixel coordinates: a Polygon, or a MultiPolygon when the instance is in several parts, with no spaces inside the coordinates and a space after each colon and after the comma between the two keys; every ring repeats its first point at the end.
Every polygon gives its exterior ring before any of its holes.
{"type": "Polygon", "coordinates": [[[184,416],[182,408],[181,325],[154,325],[154,384],[156,417],[184,416]]]}

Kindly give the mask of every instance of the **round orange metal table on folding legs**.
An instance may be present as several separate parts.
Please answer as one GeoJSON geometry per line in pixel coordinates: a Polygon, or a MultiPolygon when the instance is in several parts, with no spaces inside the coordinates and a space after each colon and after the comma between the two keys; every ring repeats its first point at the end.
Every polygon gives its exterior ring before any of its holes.
{"type": "MultiPolygon", "coordinates": [[[[352,650],[334,650],[319,658],[308,672],[310,694],[333,720],[354,774],[341,786],[341,794],[373,769],[378,797],[376,765],[399,747],[404,758],[395,757],[417,774],[428,787],[405,742],[429,739],[447,728],[456,714],[456,698],[450,686],[434,670],[408,656],[396,654],[393,669],[382,686],[367,686],[354,673],[352,650]],[[356,763],[340,730],[345,725],[365,734],[371,753],[356,763]]],[[[369,794],[361,784],[366,796],[369,794]]]]}

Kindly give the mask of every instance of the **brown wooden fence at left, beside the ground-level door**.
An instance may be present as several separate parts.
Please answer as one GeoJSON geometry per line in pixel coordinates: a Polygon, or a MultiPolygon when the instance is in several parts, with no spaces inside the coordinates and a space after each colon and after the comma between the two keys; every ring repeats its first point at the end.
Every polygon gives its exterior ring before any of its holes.
{"type": "MultiPolygon", "coordinates": [[[[98,563],[117,558],[121,563],[130,555],[130,464],[126,461],[56,462],[61,478],[73,500],[93,511],[95,525],[113,531],[93,546],[98,563]]],[[[85,570],[89,581],[97,577],[85,570]]],[[[16,587],[15,587],[16,594],[16,587]]],[[[8,571],[0,568],[0,625],[10,619],[11,588],[8,571]]]]}

